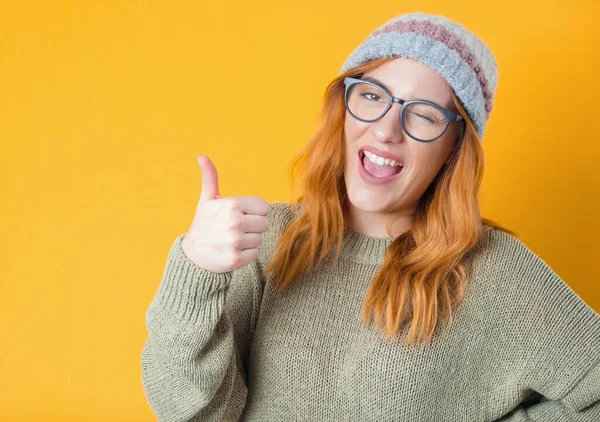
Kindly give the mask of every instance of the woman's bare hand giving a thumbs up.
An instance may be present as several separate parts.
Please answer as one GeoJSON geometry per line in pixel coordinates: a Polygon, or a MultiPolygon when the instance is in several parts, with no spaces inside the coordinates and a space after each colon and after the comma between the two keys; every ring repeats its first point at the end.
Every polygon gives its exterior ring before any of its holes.
{"type": "Polygon", "coordinates": [[[262,234],[269,229],[269,204],[255,196],[221,198],[217,169],[201,155],[202,192],[181,248],[198,267],[223,273],[255,261],[262,234]]]}

